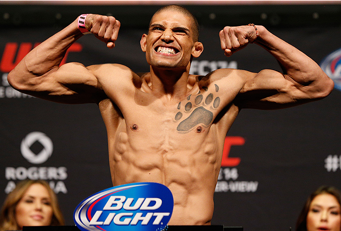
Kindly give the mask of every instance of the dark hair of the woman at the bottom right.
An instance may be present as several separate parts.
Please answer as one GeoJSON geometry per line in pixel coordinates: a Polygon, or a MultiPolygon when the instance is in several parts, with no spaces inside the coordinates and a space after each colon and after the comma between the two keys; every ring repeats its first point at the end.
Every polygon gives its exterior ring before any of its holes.
{"type": "Polygon", "coordinates": [[[333,186],[320,186],[316,191],[314,191],[307,199],[302,211],[296,222],[296,231],[307,231],[307,216],[309,212],[310,205],[313,199],[321,194],[330,194],[335,197],[335,199],[341,205],[341,193],[333,186]]]}

